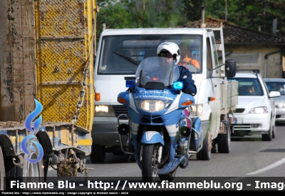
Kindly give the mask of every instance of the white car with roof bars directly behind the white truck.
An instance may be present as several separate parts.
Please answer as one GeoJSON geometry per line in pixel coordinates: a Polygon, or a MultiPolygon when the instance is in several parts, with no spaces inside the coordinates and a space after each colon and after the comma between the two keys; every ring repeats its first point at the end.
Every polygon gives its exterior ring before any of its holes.
{"type": "Polygon", "coordinates": [[[259,70],[239,70],[236,76],[228,79],[239,81],[238,105],[231,115],[232,136],[262,134],[263,141],[271,141],[275,138],[274,98],[280,93],[269,93],[259,70]]]}

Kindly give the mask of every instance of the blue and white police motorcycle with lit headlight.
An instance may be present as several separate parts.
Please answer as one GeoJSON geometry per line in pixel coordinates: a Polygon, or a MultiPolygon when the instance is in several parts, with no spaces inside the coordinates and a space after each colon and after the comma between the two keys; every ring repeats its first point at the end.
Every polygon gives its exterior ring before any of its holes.
{"type": "Polygon", "coordinates": [[[201,120],[189,116],[195,99],[182,92],[175,61],[165,63],[163,58],[145,58],[135,80],[126,80],[128,91],[118,95],[118,102],[128,108],[128,115],[118,116],[120,145],[135,156],[143,182],[155,182],[157,175],[174,180],[177,168],[187,167],[189,150],[202,148],[201,120]],[[129,137],[126,149],[121,135],[129,137]]]}

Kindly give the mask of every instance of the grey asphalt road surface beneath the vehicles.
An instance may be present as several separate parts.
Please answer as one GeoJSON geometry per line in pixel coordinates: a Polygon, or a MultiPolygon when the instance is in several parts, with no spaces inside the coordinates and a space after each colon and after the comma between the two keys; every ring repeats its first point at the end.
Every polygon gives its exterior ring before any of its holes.
{"type": "MultiPolygon", "coordinates": [[[[187,168],[177,169],[176,177],[284,177],[285,176],[285,125],[276,126],[276,138],[264,142],[261,135],[233,138],[232,150],[228,154],[212,153],[211,160],[190,157],[187,168]]],[[[86,158],[88,177],[141,177],[136,163],[128,163],[129,155],[107,153],[105,163],[93,164],[86,158]]],[[[50,168],[48,177],[55,177],[56,170],[50,168]]],[[[78,173],[84,177],[84,173],[78,173]]]]}

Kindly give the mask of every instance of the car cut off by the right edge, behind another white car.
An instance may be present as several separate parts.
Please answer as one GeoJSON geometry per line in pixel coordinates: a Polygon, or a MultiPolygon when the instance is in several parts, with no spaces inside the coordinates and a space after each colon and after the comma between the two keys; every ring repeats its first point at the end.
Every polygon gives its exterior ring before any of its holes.
{"type": "Polygon", "coordinates": [[[279,91],[281,96],[274,98],[276,107],[276,123],[285,123],[285,78],[264,78],[269,92],[279,91]]]}

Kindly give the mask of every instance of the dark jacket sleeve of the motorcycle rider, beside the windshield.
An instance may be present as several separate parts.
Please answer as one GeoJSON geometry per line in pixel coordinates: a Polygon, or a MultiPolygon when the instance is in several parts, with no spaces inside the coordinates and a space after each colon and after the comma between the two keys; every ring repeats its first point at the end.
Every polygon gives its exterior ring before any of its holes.
{"type": "Polygon", "coordinates": [[[195,81],[192,79],[192,73],[187,68],[185,68],[185,66],[178,66],[178,68],[180,71],[180,77],[178,81],[183,82],[182,91],[184,93],[195,96],[197,93],[197,88],[195,85],[195,81]]]}

